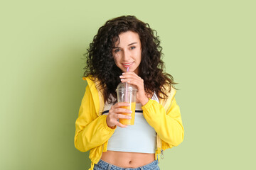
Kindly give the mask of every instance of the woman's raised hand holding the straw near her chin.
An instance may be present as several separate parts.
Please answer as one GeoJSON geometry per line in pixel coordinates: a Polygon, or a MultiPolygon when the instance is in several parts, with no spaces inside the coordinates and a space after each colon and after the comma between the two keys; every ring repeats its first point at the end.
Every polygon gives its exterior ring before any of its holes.
{"type": "Polygon", "coordinates": [[[142,104],[142,106],[144,106],[149,101],[149,98],[147,98],[146,92],[144,90],[144,80],[141,77],[139,77],[134,72],[124,72],[120,76],[120,79],[122,82],[127,82],[129,84],[137,86],[137,99],[139,103],[142,104]]]}

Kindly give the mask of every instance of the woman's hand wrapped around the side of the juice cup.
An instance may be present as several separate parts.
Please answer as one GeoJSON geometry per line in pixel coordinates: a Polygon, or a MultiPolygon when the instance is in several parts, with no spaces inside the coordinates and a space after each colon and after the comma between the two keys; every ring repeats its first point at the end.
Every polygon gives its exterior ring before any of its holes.
{"type": "Polygon", "coordinates": [[[132,113],[129,109],[121,108],[122,106],[129,106],[129,103],[115,103],[113,106],[111,106],[110,111],[107,115],[107,125],[110,128],[114,128],[115,125],[126,128],[127,125],[123,125],[122,123],[119,123],[119,118],[125,118],[125,119],[131,119],[132,117],[129,115],[123,115],[121,113],[132,113]]]}

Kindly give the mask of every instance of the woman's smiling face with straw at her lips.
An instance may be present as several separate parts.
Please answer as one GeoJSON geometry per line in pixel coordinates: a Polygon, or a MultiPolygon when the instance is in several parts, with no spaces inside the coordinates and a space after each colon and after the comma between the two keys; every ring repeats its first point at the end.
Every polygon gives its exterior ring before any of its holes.
{"type": "Polygon", "coordinates": [[[112,49],[114,62],[122,70],[139,74],[139,64],[142,61],[142,44],[139,40],[139,34],[132,31],[119,34],[119,40],[115,42],[112,49]]]}

